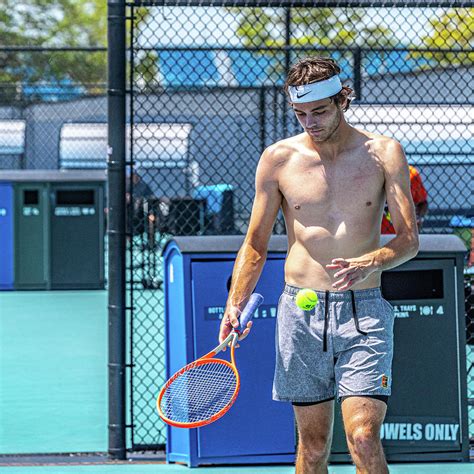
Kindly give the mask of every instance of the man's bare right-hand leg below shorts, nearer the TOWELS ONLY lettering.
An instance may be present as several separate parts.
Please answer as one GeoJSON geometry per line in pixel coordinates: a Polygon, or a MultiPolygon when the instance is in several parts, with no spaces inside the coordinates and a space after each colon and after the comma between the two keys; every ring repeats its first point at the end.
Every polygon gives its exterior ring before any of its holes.
{"type": "Polygon", "coordinates": [[[380,428],[387,405],[370,397],[347,397],[342,402],[342,416],[347,444],[357,467],[357,474],[388,473],[380,441],[380,428]]]}

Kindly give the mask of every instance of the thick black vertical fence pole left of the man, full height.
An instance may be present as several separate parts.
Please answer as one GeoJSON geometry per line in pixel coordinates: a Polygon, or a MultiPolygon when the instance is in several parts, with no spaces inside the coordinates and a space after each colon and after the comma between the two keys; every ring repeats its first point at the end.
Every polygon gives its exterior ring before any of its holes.
{"type": "Polygon", "coordinates": [[[125,0],[108,1],[109,457],[126,459],[125,0]]]}

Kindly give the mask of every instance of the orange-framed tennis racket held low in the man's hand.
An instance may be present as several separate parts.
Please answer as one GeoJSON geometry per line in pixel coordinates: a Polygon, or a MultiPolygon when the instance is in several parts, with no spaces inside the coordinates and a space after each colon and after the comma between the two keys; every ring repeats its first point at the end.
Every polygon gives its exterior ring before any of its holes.
{"type": "MultiPolygon", "coordinates": [[[[254,293],[240,315],[245,329],[263,296],[254,293]]],[[[233,329],[211,352],[176,372],[161,389],[156,402],[160,418],[178,428],[197,428],[218,420],[234,404],[240,389],[235,365],[235,344],[240,330],[233,329]],[[214,356],[230,344],[230,362],[214,356]]]]}

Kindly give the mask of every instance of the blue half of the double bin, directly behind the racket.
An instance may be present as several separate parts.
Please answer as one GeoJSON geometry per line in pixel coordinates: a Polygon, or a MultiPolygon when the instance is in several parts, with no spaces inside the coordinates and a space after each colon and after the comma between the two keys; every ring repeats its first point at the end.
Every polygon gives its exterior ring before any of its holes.
{"type": "MultiPolygon", "coordinates": [[[[218,344],[228,285],[243,237],[176,237],[164,249],[166,377],[218,344]]],[[[256,288],[265,301],[236,351],[241,388],[229,412],[208,426],[168,427],[167,460],[201,464],[290,463],[295,459],[291,406],[272,400],[275,321],[286,249],[269,252],[256,288]]],[[[223,357],[228,357],[228,352],[223,357]]]]}

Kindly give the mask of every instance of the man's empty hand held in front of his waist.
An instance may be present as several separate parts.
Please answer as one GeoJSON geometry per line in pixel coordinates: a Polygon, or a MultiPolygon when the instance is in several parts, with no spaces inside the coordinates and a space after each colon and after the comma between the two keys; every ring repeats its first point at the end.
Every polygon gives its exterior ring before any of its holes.
{"type": "Polygon", "coordinates": [[[370,257],[333,258],[326,265],[329,270],[339,270],[334,274],[336,280],[332,287],[336,290],[348,290],[357,283],[364,281],[377,270],[374,259],[370,257]],[[339,279],[338,279],[339,278],[339,279]]]}

